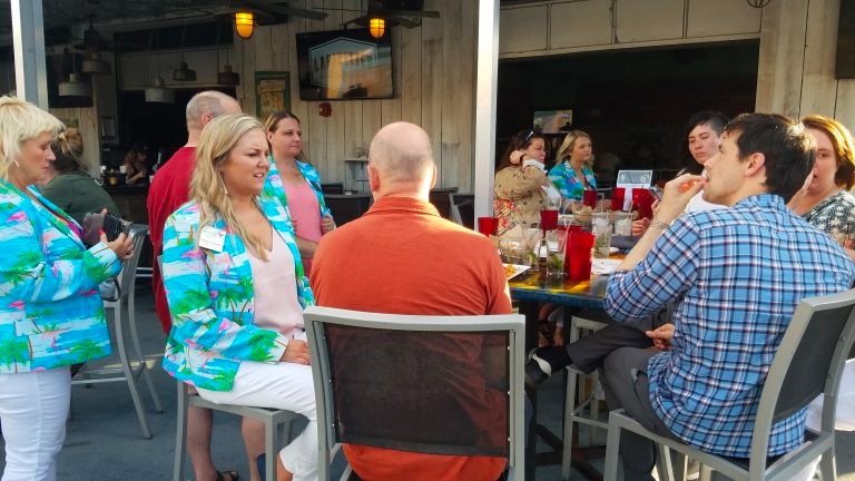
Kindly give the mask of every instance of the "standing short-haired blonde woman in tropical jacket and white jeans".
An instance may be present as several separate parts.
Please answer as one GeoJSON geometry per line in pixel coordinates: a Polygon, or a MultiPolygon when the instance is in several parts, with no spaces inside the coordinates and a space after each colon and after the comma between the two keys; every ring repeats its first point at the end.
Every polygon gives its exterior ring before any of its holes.
{"type": "Polygon", "coordinates": [[[125,235],[87,249],[80,226],[29,186],[62,124],[0,98],[0,423],[4,480],[55,480],[71,399],[69,365],[106,356],[98,284],[132,255],[125,235]]]}

